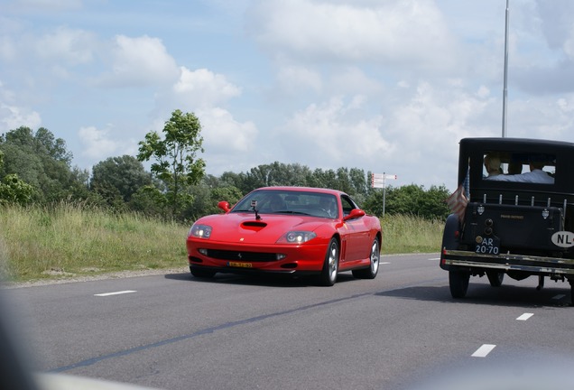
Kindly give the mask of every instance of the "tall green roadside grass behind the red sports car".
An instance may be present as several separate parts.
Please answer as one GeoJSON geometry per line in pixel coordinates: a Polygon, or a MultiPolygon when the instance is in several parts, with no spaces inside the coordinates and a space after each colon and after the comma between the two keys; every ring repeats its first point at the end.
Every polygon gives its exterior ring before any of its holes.
{"type": "MultiPolygon", "coordinates": [[[[381,220],[383,254],[438,252],[443,223],[381,220]]],[[[13,282],[187,265],[190,227],[62,202],[0,208],[0,272],[13,282]]]]}

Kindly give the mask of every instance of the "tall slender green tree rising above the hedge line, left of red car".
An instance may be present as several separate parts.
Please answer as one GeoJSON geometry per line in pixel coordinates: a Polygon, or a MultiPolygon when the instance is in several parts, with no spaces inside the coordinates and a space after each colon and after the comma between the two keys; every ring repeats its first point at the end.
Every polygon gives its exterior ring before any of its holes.
{"type": "Polygon", "coordinates": [[[152,173],[166,186],[166,204],[173,218],[192,201],[190,186],[199,183],[205,174],[205,162],[197,157],[203,153],[199,118],[192,113],[175,110],[163,127],[164,138],[152,131],[140,142],[137,159],[141,162],[153,159],[152,173]]]}

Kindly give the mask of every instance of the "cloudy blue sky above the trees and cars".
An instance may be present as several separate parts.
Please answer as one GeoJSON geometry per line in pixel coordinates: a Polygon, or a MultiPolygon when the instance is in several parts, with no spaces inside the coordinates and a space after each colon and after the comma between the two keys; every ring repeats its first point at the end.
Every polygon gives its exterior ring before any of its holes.
{"type": "MultiPolygon", "coordinates": [[[[175,109],[207,172],[361,168],[456,187],[502,134],[505,0],[0,0],[0,133],[89,169],[175,109]]],[[[510,0],[507,135],[574,141],[574,2],[510,0]]]]}

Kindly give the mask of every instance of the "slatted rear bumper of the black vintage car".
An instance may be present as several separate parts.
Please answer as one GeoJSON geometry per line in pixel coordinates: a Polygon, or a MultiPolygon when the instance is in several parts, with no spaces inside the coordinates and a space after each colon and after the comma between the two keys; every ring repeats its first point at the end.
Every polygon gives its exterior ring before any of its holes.
{"type": "Polygon", "coordinates": [[[442,269],[482,268],[501,271],[522,271],[529,274],[569,275],[574,278],[574,259],[536,255],[483,255],[460,250],[443,250],[442,269]]]}

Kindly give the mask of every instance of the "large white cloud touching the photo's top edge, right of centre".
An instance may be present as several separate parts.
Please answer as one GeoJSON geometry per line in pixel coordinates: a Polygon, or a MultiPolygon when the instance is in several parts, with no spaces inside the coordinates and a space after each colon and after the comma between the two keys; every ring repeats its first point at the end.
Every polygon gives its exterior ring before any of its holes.
{"type": "Polygon", "coordinates": [[[453,41],[434,2],[260,0],[249,31],[274,58],[449,68],[453,41]]]}

